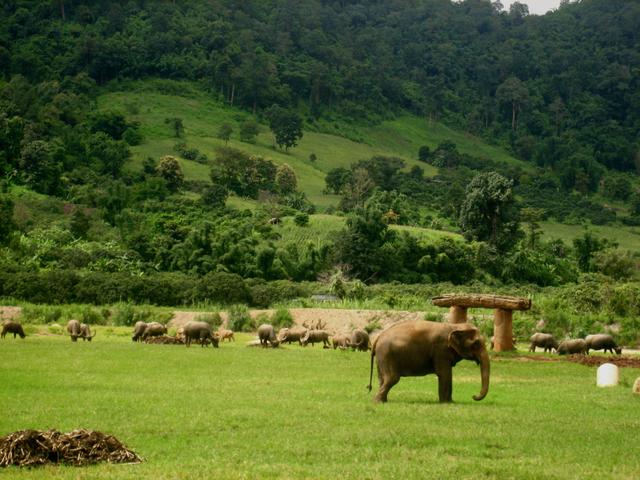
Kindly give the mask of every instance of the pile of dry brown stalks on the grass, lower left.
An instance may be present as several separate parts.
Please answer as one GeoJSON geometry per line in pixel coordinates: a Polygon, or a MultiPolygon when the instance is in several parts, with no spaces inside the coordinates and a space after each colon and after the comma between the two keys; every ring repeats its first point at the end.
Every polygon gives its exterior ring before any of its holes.
{"type": "Polygon", "coordinates": [[[140,463],[118,439],[93,430],[21,430],[0,438],[0,467],[33,467],[47,463],[88,465],[98,462],[140,463]]]}

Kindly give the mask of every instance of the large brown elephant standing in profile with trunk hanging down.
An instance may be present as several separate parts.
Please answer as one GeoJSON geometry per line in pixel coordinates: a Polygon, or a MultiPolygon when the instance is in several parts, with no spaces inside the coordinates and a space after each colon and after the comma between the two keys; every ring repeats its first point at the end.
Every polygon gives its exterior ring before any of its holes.
{"type": "Polygon", "coordinates": [[[386,402],[389,390],[401,377],[438,376],[440,402],[451,402],[452,369],[460,360],[480,365],[482,387],[474,400],[482,400],[489,391],[489,354],[478,329],[468,323],[438,323],[413,320],[384,330],[371,349],[371,391],[373,361],[377,360],[380,389],[377,402],[386,402]]]}

